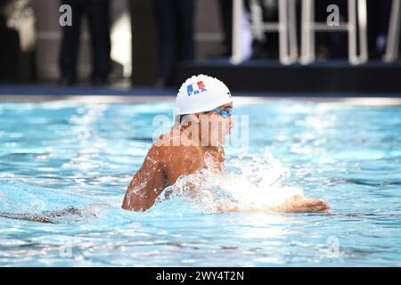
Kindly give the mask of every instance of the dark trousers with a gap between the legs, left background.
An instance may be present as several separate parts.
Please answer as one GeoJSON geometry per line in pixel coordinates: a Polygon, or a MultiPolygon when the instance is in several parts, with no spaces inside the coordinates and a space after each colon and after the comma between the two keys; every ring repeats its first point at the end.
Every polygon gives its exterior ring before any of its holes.
{"type": "Polygon", "coordinates": [[[72,8],[72,27],[62,27],[61,77],[77,78],[79,36],[86,15],[92,45],[92,80],[107,80],[110,73],[110,1],[61,0],[72,8]]]}

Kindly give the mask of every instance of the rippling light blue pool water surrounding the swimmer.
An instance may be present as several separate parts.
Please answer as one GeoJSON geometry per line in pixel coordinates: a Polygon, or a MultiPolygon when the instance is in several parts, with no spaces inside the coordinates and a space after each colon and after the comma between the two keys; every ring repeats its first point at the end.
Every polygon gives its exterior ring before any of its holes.
{"type": "Polygon", "coordinates": [[[53,224],[0,217],[0,265],[401,265],[400,107],[283,101],[234,109],[249,115],[249,142],[227,148],[231,175],[210,178],[219,191],[260,201],[295,189],[329,201],[327,214],[216,214],[184,196],[124,211],[127,184],[158,127],[152,120],[171,110],[0,103],[0,212],[81,210],[53,224]]]}

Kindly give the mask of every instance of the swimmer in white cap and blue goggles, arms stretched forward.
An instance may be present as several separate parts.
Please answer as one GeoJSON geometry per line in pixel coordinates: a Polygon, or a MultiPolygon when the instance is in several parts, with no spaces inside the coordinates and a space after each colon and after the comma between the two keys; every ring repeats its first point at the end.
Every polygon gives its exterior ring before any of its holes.
{"type": "MultiPolygon", "coordinates": [[[[233,128],[233,100],[227,86],[205,75],[188,78],[176,96],[176,124],[160,135],[148,151],[143,166],[127,187],[122,208],[146,211],[160,194],[183,175],[207,167],[205,156],[216,162],[214,171],[223,172],[225,136],[233,128]],[[207,126],[207,127],[204,127],[207,126]]],[[[185,189],[196,192],[188,183],[185,189]]],[[[168,197],[167,197],[168,198],[168,197]]],[[[330,206],[321,199],[295,195],[282,205],[264,208],[219,207],[217,212],[327,212],[330,206]]]]}

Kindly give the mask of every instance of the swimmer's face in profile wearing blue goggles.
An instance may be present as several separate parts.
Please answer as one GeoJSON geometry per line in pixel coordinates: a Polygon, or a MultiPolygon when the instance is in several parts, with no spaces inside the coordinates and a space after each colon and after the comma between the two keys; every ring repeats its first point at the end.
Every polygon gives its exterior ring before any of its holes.
{"type": "Polygon", "coordinates": [[[225,144],[225,136],[230,134],[230,130],[233,128],[233,118],[231,117],[233,103],[221,105],[217,109],[222,112],[211,110],[200,116],[202,140],[209,142],[210,146],[225,144]]]}

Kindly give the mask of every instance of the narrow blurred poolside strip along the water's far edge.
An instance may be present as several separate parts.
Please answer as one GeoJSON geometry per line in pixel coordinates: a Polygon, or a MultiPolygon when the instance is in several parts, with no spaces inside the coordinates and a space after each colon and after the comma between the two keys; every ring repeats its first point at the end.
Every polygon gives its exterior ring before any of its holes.
{"type": "MultiPolygon", "coordinates": [[[[173,102],[174,90],[92,88],[44,85],[0,85],[0,102],[145,103],[173,102]]],[[[359,106],[401,106],[399,94],[234,92],[238,105],[269,101],[342,103],[359,106]]]]}

